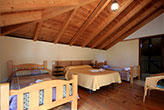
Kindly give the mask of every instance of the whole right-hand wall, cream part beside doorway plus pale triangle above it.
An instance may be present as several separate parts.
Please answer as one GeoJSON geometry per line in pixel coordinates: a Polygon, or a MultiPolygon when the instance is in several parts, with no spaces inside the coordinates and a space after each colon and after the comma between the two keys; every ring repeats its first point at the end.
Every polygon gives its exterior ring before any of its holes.
{"type": "MultiPolygon", "coordinates": [[[[146,24],[127,39],[164,34],[164,13],[146,24]]],[[[108,64],[114,67],[135,66],[139,64],[139,40],[119,42],[107,51],[108,64]]]]}

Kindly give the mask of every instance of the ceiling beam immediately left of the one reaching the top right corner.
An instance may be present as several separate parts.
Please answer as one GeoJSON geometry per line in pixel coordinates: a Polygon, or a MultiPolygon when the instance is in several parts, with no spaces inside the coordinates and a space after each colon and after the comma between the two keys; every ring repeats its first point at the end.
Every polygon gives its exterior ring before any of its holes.
{"type": "MultiPolygon", "coordinates": [[[[145,7],[152,0],[135,0],[132,2],[129,7],[125,9],[119,16],[123,16],[119,22],[117,22],[114,26],[112,26],[107,33],[105,33],[99,40],[97,40],[91,48],[98,46],[103,42],[107,37],[109,37],[115,30],[120,28],[124,23],[126,23],[130,18],[132,18],[136,13],[138,13],[143,7],[145,7]],[[129,10],[129,11],[126,11],[129,10]]],[[[119,18],[118,16],[118,18],[119,18]]],[[[117,19],[117,18],[116,18],[117,19]]]]}

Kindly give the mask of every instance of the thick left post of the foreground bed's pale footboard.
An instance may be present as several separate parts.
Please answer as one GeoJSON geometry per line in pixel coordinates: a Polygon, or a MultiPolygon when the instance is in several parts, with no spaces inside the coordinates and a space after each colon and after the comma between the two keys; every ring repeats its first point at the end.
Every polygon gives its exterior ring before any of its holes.
{"type": "Polygon", "coordinates": [[[9,83],[0,84],[0,109],[9,110],[9,83]]]}

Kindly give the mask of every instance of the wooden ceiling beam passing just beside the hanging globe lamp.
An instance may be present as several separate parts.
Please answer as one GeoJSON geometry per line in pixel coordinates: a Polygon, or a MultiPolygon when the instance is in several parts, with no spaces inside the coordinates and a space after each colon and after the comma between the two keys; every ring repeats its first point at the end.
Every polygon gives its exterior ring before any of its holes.
{"type": "Polygon", "coordinates": [[[119,9],[116,12],[112,12],[98,27],[95,27],[95,31],[84,41],[82,47],[85,47],[91,40],[94,39],[109,23],[111,23],[126,7],[128,7],[134,0],[123,0],[119,9]]]}

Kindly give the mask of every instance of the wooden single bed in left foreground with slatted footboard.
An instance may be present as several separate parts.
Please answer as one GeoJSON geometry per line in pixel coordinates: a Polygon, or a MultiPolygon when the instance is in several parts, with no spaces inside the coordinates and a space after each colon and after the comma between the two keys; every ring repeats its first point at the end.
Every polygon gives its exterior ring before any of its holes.
{"type": "Polygon", "coordinates": [[[47,69],[47,61],[43,65],[9,61],[8,72],[9,82],[0,84],[2,110],[46,110],[67,102],[77,110],[77,75],[67,81],[57,79],[47,69]]]}

